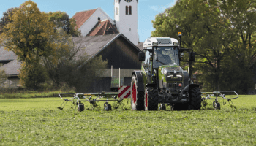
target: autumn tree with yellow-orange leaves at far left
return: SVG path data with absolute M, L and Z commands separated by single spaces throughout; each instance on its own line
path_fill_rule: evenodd
M 12 50 L 22 61 L 20 79 L 24 81 L 25 86 L 37 88 L 37 85 L 43 82 L 42 78 L 45 78 L 34 74 L 42 71 L 39 69 L 42 57 L 56 53 L 54 24 L 48 21 L 48 15 L 40 12 L 33 1 L 26 1 L 18 9 L 13 9 L 9 19 L 12 23 L 5 26 L 0 44 L 7 50 Z M 26 85 L 26 77 L 34 80 L 34 84 Z

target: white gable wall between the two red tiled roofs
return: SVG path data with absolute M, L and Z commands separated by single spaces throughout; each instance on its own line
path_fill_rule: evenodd
M 94 14 L 78 29 L 81 31 L 81 36 L 85 37 L 94 28 L 98 23 L 98 17 L 100 17 L 100 20 L 108 19 L 110 23 L 114 24 L 113 20 L 101 8 L 97 8 Z

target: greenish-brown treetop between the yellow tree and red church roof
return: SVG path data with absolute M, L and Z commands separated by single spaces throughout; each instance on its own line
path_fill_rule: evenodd
M 69 18 L 66 12 L 49 12 L 48 20 L 53 22 L 57 28 L 62 28 L 67 34 L 72 37 L 79 37 L 80 31 L 78 31 L 78 27 L 75 23 L 74 18 Z

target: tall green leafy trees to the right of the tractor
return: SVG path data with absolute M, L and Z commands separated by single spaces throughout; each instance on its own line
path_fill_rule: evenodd
M 255 88 L 255 8 L 255 0 L 178 0 L 152 21 L 151 37 L 182 32 L 182 47 L 196 52 L 192 73 L 203 91 L 248 93 Z

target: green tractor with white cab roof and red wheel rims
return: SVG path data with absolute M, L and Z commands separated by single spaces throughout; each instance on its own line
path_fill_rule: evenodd
M 181 33 L 178 33 L 181 42 Z M 189 69 L 195 61 L 192 49 L 181 48 L 177 39 L 151 37 L 138 54 L 142 61 L 140 71 L 132 72 L 132 110 L 199 110 L 201 91 L 190 80 L 191 72 L 180 66 L 184 51 L 189 52 Z

